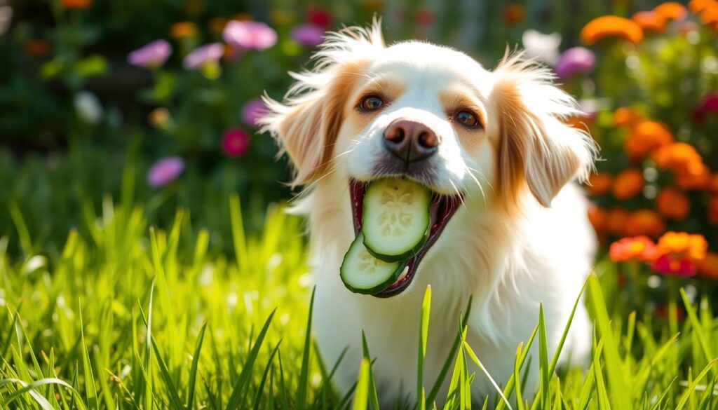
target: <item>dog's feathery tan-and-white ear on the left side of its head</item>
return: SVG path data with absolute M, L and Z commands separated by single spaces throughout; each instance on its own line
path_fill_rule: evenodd
M 274 101 L 264 96 L 268 112 L 259 120 L 294 164 L 292 186 L 307 185 L 330 165 L 347 98 L 361 77 L 363 65 L 384 47 L 381 21 L 368 29 L 349 27 L 327 33 L 314 55 L 314 69 L 289 73 L 297 80 L 284 96 Z

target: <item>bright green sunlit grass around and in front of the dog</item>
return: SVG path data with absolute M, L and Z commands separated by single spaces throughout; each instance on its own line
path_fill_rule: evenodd
M 211 251 L 212 233 L 194 228 L 189 213 L 153 228 L 143 208 L 109 197 L 53 251 L 34 243 L 22 209 L 11 208 L 14 240 L 23 243 L 0 239 L 0 408 L 376 408 L 371 346 L 363 340 L 355 394 L 340 396 L 331 386 L 337 363 L 322 362 L 307 330 L 313 297 L 301 220 L 272 206 L 261 235 L 246 235 L 238 197 L 225 203 L 233 253 Z M 615 266 L 602 262 L 597 272 L 585 289 L 595 318 L 586 366 L 557 366 L 561 348 L 547 349 L 540 309 L 533 334 L 516 347 L 515 374 L 493 380 L 465 340 L 466 312 L 455 318 L 456 354 L 444 366 L 449 395 L 437 398 L 436 386 L 418 378 L 419 403 L 397 407 L 718 408 L 711 301 L 682 292 L 669 320 L 637 317 L 615 303 Z M 417 363 L 407 364 L 419 373 L 430 288 L 421 309 Z M 540 380 L 536 392 L 523 388 L 529 373 Z M 494 383 L 489 400 L 471 395 L 475 378 Z

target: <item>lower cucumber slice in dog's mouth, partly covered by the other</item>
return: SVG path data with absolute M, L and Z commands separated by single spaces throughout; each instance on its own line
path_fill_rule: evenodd
M 340 277 L 352 292 L 373 294 L 393 284 L 404 271 L 405 262 L 384 262 L 375 258 L 364 246 L 361 233 L 344 255 Z

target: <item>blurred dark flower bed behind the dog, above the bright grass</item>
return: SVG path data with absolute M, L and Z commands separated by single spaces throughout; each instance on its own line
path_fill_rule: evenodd
M 692 274 L 718 276 L 705 254 L 718 248 L 712 0 L 0 0 L 9 251 L 57 253 L 70 228 L 90 235 L 103 197 L 141 205 L 150 225 L 189 210 L 211 250 L 230 250 L 230 192 L 251 232 L 292 195 L 286 159 L 257 134 L 258 98 L 281 97 L 322 32 L 375 14 L 388 42 L 428 39 L 487 67 L 523 47 L 554 67 L 587 113 L 571 121 L 603 148 L 587 190 L 606 250 L 625 236 L 696 234 L 710 264 L 694 258 Z

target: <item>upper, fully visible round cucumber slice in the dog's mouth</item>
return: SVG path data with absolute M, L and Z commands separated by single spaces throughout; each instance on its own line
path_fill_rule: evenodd
M 368 251 L 382 261 L 403 261 L 429 237 L 432 194 L 409 180 L 372 182 L 364 195 L 362 232 Z

